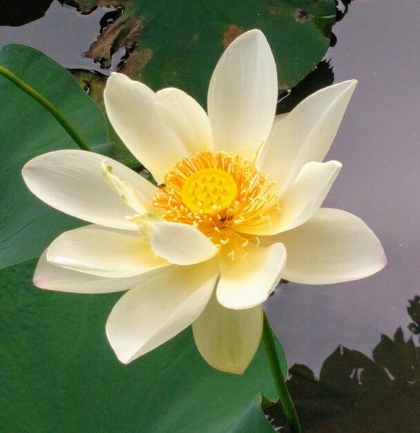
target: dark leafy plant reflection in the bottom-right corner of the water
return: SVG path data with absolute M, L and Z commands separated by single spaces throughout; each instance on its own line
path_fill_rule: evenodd
M 420 297 L 409 303 L 418 331 Z M 372 358 L 339 346 L 323 362 L 318 379 L 306 365 L 296 364 L 289 373 L 287 385 L 303 432 L 419 432 L 420 347 L 413 337 L 405 340 L 401 328 L 393 338 L 381 336 Z M 285 426 L 278 405 L 265 412 L 273 425 Z

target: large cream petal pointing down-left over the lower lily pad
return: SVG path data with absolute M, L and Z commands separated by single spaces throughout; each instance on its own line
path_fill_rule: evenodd
M 183 331 L 202 313 L 218 278 L 217 260 L 170 266 L 128 291 L 106 322 L 106 335 L 125 364 Z

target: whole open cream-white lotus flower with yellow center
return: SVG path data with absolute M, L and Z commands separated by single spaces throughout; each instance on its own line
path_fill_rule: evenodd
M 178 89 L 153 92 L 113 73 L 115 131 L 158 187 L 108 157 L 53 151 L 23 167 L 29 189 L 90 225 L 39 259 L 40 288 L 128 290 L 106 334 L 131 362 L 192 324 L 209 365 L 241 374 L 262 335 L 262 303 L 280 279 L 331 284 L 385 265 L 356 216 L 321 208 L 341 169 L 323 163 L 356 86 L 314 93 L 276 117 L 276 64 L 264 35 L 238 37 L 218 62 L 208 114 Z

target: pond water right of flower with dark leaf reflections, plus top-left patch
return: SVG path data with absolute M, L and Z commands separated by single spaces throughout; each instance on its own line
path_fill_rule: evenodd
M 81 15 L 53 1 L 42 19 L 0 27 L 0 46 L 28 44 L 68 68 L 109 73 L 83 52 L 110 11 Z M 420 295 L 419 17 L 417 1 L 352 1 L 326 56 L 336 82 L 356 78 L 359 86 L 330 152 L 343 169 L 325 206 L 361 216 L 388 268 L 359 282 L 287 284 L 267 302 L 289 362 L 299 365 L 291 387 L 305 431 L 420 431 L 419 359 L 402 340 L 412 335 L 408 302 Z M 394 342 L 381 338 L 399 326 Z

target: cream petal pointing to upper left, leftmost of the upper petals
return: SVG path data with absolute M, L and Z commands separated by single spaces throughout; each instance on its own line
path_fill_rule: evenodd
M 187 156 L 180 139 L 158 116 L 155 93 L 126 75 L 112 73 L 104 91 L 106 114 L 124 145 L 157 181 Z

